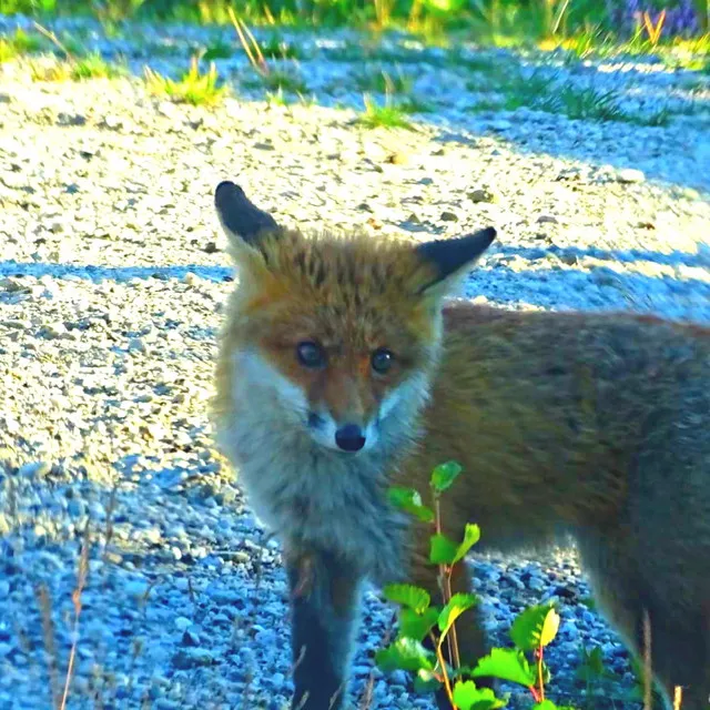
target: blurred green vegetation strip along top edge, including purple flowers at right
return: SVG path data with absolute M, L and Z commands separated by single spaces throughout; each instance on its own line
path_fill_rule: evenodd
M 645 37 L 643 11 L 657 22 L 668 10 L 661 41 L 708 32 L 710 0 L 0 0 L 0 13 L 36 18 L 90 14 L 105 24 L 126 19 L 225 24 L 229 11 L 254 26 L 349 26 L 400 29 L 428 39 L 471 37 L 549 40 Z M 671 18 L 674 18 L 671 20 Z M 662 24 L 663 21 L 661 21 Z M 586 38 L 586 39 L 585 39 Z

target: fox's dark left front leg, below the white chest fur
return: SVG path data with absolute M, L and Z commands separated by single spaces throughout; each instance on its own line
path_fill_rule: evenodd
M 286 554 L 292 609 L 293 710 L 342 707 L 359 601 L 359 577 L 332 552 Z

